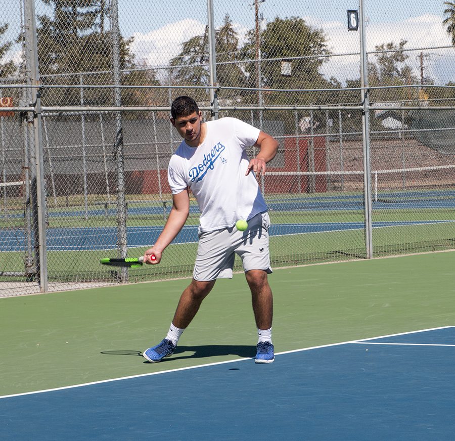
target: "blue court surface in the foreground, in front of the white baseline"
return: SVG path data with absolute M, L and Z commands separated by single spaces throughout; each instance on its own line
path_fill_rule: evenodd
M 0 437 L 455 438 L 454 326 L 278 353 L 268 365 L 243 358 L 172 370 L 186 351 L 163 362 L 167 371 L 0 397 Z

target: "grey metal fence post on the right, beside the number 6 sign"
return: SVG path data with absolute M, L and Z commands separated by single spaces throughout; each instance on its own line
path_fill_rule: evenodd
M 372 200 L 371 200 L 371 167 L 370 167 L 370 103 L 368 90 L 368 59 L 365 41 L 365 11 L 363 0 L 359 0 L 360 10 L 360 86 L 362 110 L 362 144 L 363 144 L 363 199 L 365 200 L 365 245 L 367 258 L 373 257 Z

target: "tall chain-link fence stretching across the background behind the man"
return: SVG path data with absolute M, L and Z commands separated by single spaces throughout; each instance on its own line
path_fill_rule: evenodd
M 450 3 L 9 3 L 0 296 L 191 277 L 193 198 L 158 266 L 99 264 L 142 255 L 166 221 L 178 95 L 279 140 L 260 181 L 272 266 L 455 248 Z

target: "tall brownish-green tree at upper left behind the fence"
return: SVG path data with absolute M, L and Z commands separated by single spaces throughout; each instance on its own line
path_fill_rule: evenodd
M 53 16 L 39 16 L 38 60 L 43 83 L 61 85 L 112 84 L 112 37 L 105 30 L 105 2 L 99 0 L 42 0 L 53 6 Z M 130 50 L 133 38 L 120 37 L 122 84 L 157 84 L 154 71 L 136 70 Z M 124 90 L 122 103 L 144 104 L 146 91 Z M 80 89 L 44 89 L 46 105 L 78 105 Z M 112 91 L 85 89 L 85 105 L 112 104 Z

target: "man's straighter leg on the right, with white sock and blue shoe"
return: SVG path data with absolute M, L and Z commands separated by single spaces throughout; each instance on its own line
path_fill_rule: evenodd
M 274 301 L 267 273 L 262 270 L 250 270 L 245 273 L 245 277 L 251 290 L 258 334 L 255 363 L 272 363 L 275 360 L 275 349 L 271 341 Z

